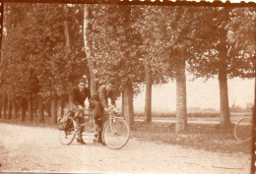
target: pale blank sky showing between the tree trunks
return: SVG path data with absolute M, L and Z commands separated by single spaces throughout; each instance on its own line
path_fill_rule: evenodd
M 228 80 L 229 106 L 232 104 L 241 107 L 254 101 L 254 80 L 242 80 L 235 78 Z M 204 83 L 203 79 L 195 81 L 187 80 L 187 107 L 200 107 L 202 109 L 213 108 L 220 110 L 220 89 L 218 79 L 211 79 Z M 120 99 L 117 105 L 120 106 Z M 176 87 L 175 82 L 153 87 L 152 111 L 171 112 L 175 111 Z M 144 111 L 145 87 L 134 98 L 135 112 Z

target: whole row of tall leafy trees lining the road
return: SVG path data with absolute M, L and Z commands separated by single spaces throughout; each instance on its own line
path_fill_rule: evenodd
M 225 128 L 227 78 L 254 77 L 255 17 L 254 8 L 5 4 L 2 101 L 11 105 L 13 98 L 29 96 L 32 110 L 33 96 L 50 98 L 56 122 L 57 95 L 64 103 L 82 75 L 92 93 L 115 78 L 132 125 L 139 86 L 146 84 L 145 121 L 151 122 L 152 86 L 172 80 L 180 133 L 187 127 L 188 71 L 219 78 Z

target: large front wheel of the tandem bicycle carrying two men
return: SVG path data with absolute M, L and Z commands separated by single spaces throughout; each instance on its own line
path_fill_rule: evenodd
M 130 127 L 123 118 L 108 121 L 102 131 L 105 145 L 112 149 L 119 149 L 126 145 L 130 138 Z

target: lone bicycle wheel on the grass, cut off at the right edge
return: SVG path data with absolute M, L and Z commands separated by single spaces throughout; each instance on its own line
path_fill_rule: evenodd
M 252 135 L 252 120 L 250 118 L 241 119 L 234 127 L 234 137 L 239 142 L 247 142 Z

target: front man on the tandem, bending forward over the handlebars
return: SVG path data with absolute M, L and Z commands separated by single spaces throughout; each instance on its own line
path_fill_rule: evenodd
M 108 111 L 108 98 L 111 99 L 111 104 L 115 105 L 116 96 L 114 90 L 115 81 L 111 79 L 105 85 L 98 87 L 96 93 L 91 99 L 91 106 L 94 109 L 94 119 L 96 124 L 95 142 L 100 143 L 101 145 L 104 145 L 101 138 L 102 130 L 100 130 L 104 122 L 103 115 L 104 112 Z

